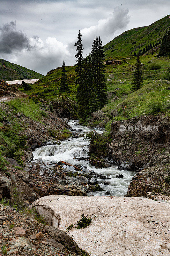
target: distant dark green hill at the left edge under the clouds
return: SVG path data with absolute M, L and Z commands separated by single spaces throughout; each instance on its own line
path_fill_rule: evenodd
M 41 77 L 43 77 L 43 75 L 40 73 L 21 67 L 17 64 L 13 64 L 7 60 L 0 59 L 0 80 L 2 81 L 39 79 Z

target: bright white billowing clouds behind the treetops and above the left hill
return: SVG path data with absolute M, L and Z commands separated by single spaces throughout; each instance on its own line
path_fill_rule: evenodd
M 97 25 L 82 29 L 84 54 L 90 51 L 94 36 L 100 35 L 101 39 L 106 41 L 108 36 L 113 38 L 116 31 L 125 28 L 128 22 L 128 10 L 117 7 L 107 19 L 99 20 Z M 16 29 L 14 32 L 18 35 Z M 10 61 L 15 60 L 21 66 L 46 74 L 49 70 L 62 66 L 63 60 L 66 65 L 75 64 L 75 41 L 76 36 L 68 45 L 58 41 L 56 37 L 48 36 L 46 40 L 42 40 L 39 36 L 33 36 L 29 38 L 29 50 L 25 47 L 20 51 L 11 49 Z M 4 58 L 9 60 L 7 55 Z

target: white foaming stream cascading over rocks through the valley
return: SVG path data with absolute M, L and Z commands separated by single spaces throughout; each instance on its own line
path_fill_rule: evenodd
M 65 161 L 71 164 L 79 164 L 86 166 L 86 168 L 89 170 L 93 170 L 96 174 L 103 174 L 107 176 L 105 183 L 107 181 L 109 184 L 103 184 L 104 180 L 100 180 L 100 178 L 98 178 L 100 187 L 103 188 L 104 191 L 90 192 L 89 194 L 104 196 L 106 191 L 110 192 L 112 196 L 123 196 L 126 194 L 130 180 L 135 175 L 135 172 L 119 170 L 114 166 L 108 168 L 95 168 L 85 160 L 74 159 L 74 157 L 87 156 L 89 140 L 84 140 L 83 134 L 90 132 L 93 129 L 81 126 L 77 121 L 70 121 L 68 124 L 77 132 L 79 132 L 80 135 L 82 134 L 82 136 L 61 141 L 60 145 L 47 145 L 41 148 L 37 148 L 33 152 L 34 159 L 42 158 L 43 161 L 48 162 Z M 96 129 L 96 132 L 100 134 L 103 133 L 103 131 L 100 129 Z M 122 174 L 124 177 L 121 179 L 116 178 L 116 175 L 119 174 Z

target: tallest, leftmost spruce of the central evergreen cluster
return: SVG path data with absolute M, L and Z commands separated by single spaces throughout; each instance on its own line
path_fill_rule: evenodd
M 83 44 L 82 44 L 82 40 L 81 40 L 82 34 L 80 33 L 80 30 L 78 32 L 78 40 L 75 43 L 76 46 L 76 55 L 75 58 L 76 60 L 76 65 L 75 65 L 75 71 L 76 71 L 76 85 L 80 85 L 81 83 L 81 74 L 82 74 L 82 61 L 83 61 Z M 81 87 L 81 85 L 80 85 Z M 80 87 L 78 87 L 78 91 L 80 89 Z

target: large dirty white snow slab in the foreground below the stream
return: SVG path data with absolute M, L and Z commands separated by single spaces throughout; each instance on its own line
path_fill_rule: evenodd
M 44 196 L 32 206 L 92 256 L 170 256 L 170 204 L 141 197 Z M 68 231 L 83 213 L 92 223 Z

